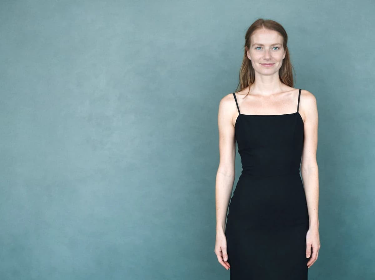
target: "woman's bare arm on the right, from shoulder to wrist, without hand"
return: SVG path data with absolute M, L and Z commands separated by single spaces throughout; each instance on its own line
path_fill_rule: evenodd
M 319 174 L 317 164 L 318 109 L 315 96 L 304 91 L 301 105 L 305 113 L 305 140 L 303 142 L 301 174 L 309 211 L 310 228 L 319 228 Z

